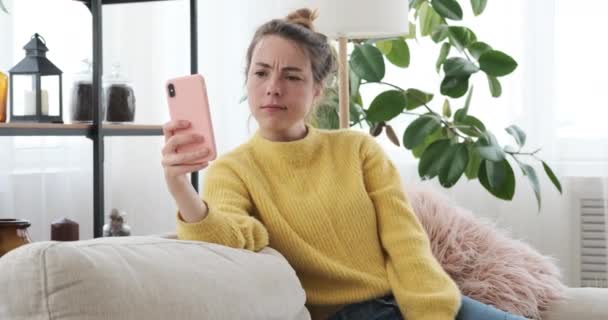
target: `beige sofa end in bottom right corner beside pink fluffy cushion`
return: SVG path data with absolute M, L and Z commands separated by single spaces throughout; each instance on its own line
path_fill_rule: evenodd
M 608 319 L 608 289 L 568 288 L 566 298 L 556 301 L 543 313 L 543 320 Z

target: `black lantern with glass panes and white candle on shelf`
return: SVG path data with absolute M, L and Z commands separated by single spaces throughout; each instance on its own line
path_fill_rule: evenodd
M 10 122 L 63 123 L 61 70 L 46 58 L 46 41 L 34 34 L 25 58 L 9 70 Z

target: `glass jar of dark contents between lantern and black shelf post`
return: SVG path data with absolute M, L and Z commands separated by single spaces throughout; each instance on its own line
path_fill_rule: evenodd
M 72 100 L 70 101 L 72 122 L 93 121 L 93 81 L 92 65 L 88 59 L 82 60 L 81 71 L 74 75 Z M 104 118 L 102 95 L 101 119 Z

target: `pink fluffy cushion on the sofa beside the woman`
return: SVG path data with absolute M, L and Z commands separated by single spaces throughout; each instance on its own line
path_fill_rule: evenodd
M 433 254 L 462 294 L 532 319 L 540 319 L 550 302 L 563 297 L 565 287 L 552 258 L 437 192 L 407 189 Z

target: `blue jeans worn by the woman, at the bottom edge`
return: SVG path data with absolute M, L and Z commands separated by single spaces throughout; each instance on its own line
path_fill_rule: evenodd
M 328 320 L 405 320 L 393 295 L 353 303 L 340 309 Z M 462 297 L 456 320 L 526 320 L 498 310 L 469 297 Z

